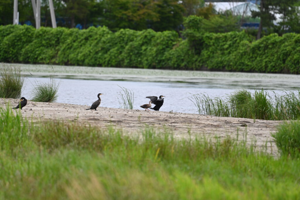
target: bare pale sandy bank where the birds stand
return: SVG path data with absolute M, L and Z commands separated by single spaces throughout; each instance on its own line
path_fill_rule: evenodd
M 0 106 L 7 103 L 15 106 L 19 100 L 0 98 Z M 146 112 L 141 110 L 128 110 L 98 107 L 95 110 L 85 110 L 89 106 L 73 105 L 66 103 L 42 103 L 28 101 L 22 109 L 23 117 L 33 121 L 57 119 L 63 121 L 78 121 L 80 124 L 91 124 L 97 127 L 114 125 L 125 133 L 140 133 L 147 125 L 154 127 L 158 132 L 164 133 L 171 130 L 174 136 L 187 138 L 189 134 L 194 137 L 198 134 L 205 136 L 217 136 L 220 138 L 231 136 L 239 139 L 247 132 L 247 143 L 256 141 L 256 146 L 262 148 L 267 142 L 267 151 L 277 154 L 271 133 L 276 131 L 282 121 L 254 120 L 245 118 L 215 117 L 209 115 L 197 115 L 188 113 L 170 112 Z

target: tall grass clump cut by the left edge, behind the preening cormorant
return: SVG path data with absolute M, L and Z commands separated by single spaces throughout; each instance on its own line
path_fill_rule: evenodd
M 0 65 L 0 97 L 17 99 L 21 97 L 24 76 L 20 67 Z

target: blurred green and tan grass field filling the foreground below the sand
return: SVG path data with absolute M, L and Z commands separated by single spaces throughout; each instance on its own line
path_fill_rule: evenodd
M 0 199 L 299 199 L 300 160 L 245 139 L 29 124 L 9 108 L 0 116 Z

